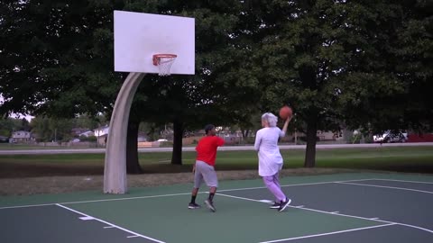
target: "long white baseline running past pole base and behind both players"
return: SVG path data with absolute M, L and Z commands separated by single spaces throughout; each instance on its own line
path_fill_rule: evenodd
M 370 181 L 373 179 L 357 179 L 357 180 L 346 180 L 346 181 L 329 181 L 329 182 L 319 182 L 319 183 L 304 183 L 304 184 L 285 184 L 281 185 L 281 187 L 289 187 L 289 186 L 302 186 L 302 185 L 311 185 L 311 184 L 333 184 L 333 183 L 342 183 L 342 182 L 361 182 L 361 181 Z M 235 192 L 235 191 L 244 191 L 244 190 L 255 190 L 255 189 L 265 189 L 265 186 L 260 187 L 244 187 L 244 188 L 235 188 L 235 189 L 226 189 L 219 190 L 218 192 Z M 207 192 L 200 192 L 207 193 Z M 19 209 L 19 208 L 30 208 L 30 207 L 41 207 L 41 206 L 52 206 L 56 204 L 76 204 L 76 203 L 88 203 L 88 202 L 112 202 L 112 201 L 123 201 L 123 200 L 135 200 L 135 199 L 146 199 L 146 198 L 158 198 L 158 197 L 166 197 L 166 196 L 178 196 L 178 195 L 189 195 L 189 193 L 172 193 L 172 194 L 160 194 L 160 195 L 148 195 L 148 196 L 136 196 L 136 197 L 123 197 L 123 198 L 113 198 L 113 199 L 99 199 L 99 200 L 89 200 L 89 201 L 77 201 L 77 202 L 52 202 L 52 203 L 42 203 L 42 204 L 29 204 L 22 206 L 8 206 L 8 207 L 0 207 L 0 210 L 3 209 Z

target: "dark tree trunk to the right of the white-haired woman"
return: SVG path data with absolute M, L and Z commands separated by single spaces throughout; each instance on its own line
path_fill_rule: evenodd
M 317 115 L 309 115 L 309 120 L 307 121 L 307 149 L 305 150 L 304 167 L 316 166 L 317 133 Z

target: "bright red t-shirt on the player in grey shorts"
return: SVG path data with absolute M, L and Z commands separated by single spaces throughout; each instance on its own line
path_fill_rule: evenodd
M 206 136 L 198 141 L 196 147 L 197 160 L 206 162 L 209 166 L 215 166 L 218 146 L 224 145 L 224 139 L 217 136 Z

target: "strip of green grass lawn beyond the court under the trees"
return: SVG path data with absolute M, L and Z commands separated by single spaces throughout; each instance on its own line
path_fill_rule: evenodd
M 281 149 L 285 168 L 303 166 L 304 149 Z M 183 152 L 183 166 L 170 165 L 170 152 L 143 152 L 145 173 L 186 172 L 195 152 Z M 46 175 L 103 175 L 105 154 L 0 155 L 0 178 Z M 433 173 L 432 147 L 318 148 L 317 167 Z M 255 151 L 218 151 L 218 170 L 257 169 Z

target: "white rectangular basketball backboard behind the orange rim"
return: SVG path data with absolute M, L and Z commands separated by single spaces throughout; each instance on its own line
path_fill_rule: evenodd
M 115 71 L 159 73 L 154 54 L 176 54 L 171 74 L 195 72 L 195 19 L 115 11 Z

